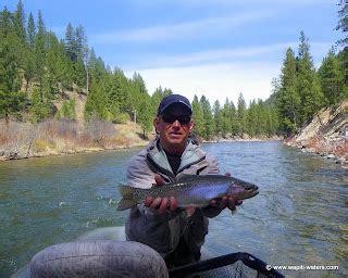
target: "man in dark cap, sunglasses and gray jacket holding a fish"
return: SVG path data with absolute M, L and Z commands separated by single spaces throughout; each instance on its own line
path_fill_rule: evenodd
M 165 97 L 153 125 L 158 138 L 134 156 L 127 168 L 128 185 L 138 188 L 165 186 L 183 175 L 219 174 L 216 159 L 189 139 L 194 128 L 191 105 L 179 94 Z M 145 243 L 159 252 L 167 267 L 196 262 L 208 233 L 208 217 L 222 210 L 235 210 L 240 200 L 224 197 L 203 208 L 177 210 L 173 197 L 147 198 L 130 210 L 126 220 L 128 240 Z

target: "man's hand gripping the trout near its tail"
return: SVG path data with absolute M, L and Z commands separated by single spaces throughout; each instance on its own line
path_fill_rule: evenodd
M 165 185 L 165 180 L 159 174 L 154 175 L 154 181 L 157 187 L 161 187 Z M 174 197 L 170 197 L 170 198 L 159 197 L 156 199 L 153 199 L 152 197 L 147 197 L 146 200 L 144 201 L 144 204 L 147 207 L 159 210 L 160 213 L 165 213 L 167 210 L 173 212 L 177 208 L 177 201 Z

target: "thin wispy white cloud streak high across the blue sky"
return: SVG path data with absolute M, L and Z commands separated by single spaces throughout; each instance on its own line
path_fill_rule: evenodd
M 169 39 L 200 37 L 238 27 L 241 24 L 270 16 L 270 12 L 252 12 L 231 17 L 207 17 L 198 21 L 147 28 L 125 29 L 91 36 L 92 43 L 158 42 Z

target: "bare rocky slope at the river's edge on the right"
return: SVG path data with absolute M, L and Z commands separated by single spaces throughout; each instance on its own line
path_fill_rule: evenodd
M 285 143 L 336 163 L 348 163 L 348 101 L 332 110 L 321 110 L 308 126 Z

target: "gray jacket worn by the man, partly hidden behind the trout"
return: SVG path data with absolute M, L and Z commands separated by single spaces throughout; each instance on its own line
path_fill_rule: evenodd
M 128 186 L 151 188 L 156 184 L 156 174 L 160 174 L 166 181 L 176 181 L 182 175 L 219 174 L 219 168 L 215 157 L 189 140 L 175 176 L 165 152 L 156 139 L 130 160 L 127 168 Z M 214 217 L 220 212 L 220 208 L 208 206 L 196 208 L 188 217 L 186 211 L 160 214 L 139 204 L 130 210 L 126 219 L 127 240 L 145 243 L 165 258 L 175 250 L 179 238 L 184 237 L 189 252 L 195 253 L 200 250 L 208 233 L 207 217 Z

